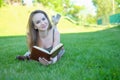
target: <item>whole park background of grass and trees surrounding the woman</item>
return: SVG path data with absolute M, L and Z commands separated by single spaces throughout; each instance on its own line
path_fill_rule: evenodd
M 0 0 L 0 80 L 120 79 L 119 0 L 24 1 Z M 36 9 L 50 19 L 62 15 L 58 30 L 66 54 L 54 65 L 15 60 L 27 51 L 27 21 Z

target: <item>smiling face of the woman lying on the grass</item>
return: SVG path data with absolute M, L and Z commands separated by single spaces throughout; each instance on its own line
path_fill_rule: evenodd
M 34 28 L 40 31 L 45 31 L 48 29 L 49 22 L 46 16 L 42 13 L 36 13 L 33 18 Z

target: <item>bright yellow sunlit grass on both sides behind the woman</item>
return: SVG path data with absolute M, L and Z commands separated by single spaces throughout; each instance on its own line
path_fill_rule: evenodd
M 25 6 L 6 6 L 0 8 L 0 36 L 25 35 L 26 26 L 30 13 L 33 10 L 41 9 L 48 13 L 49 18 L 55 14 L 54 11 L 43 6 L 25 7 Z M 79 33 L 104 30 L 108 27 L 82 27 L 77 26 L 62 16 L 58 29 L 60 33 Z

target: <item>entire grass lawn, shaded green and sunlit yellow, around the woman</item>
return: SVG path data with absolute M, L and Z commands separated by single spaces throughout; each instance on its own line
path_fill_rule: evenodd
M 22 8 L 18 12 L 23 10 L 25 14 L 5 20 L 0 13 L 0 80 L 120 80 L 120 26 L 83 28 L 62 18 L 58 29 L 66 52 L 60 61 L 43 66 L 35 61 L 16 60 L 17 55 L 27 51 L 25 20 L 33 10 Z

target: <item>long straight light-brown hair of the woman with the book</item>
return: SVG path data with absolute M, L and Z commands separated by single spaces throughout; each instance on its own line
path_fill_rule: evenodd
M 48 30 L 50 30 L 52 28 L 51 22 L 47 16 L 47 14 L 42 11 L 42 10 L 35 10 L 33 11 L 30 16 L 29 16 L 29 20 L 28 20 L 28 25 L 27 25 L 27 44 L 29 47 L 29 50 L 31 51 L 32 46 L 37 45 L 37 38 L 38 38 L 38 30 L 34 29 L 34 23 L 32 21 L 32 18 L 35 14 L 37 13 L 42 13 L 45 15 L 45 17 L 48 19 L 49 22 L 49 27 Z

